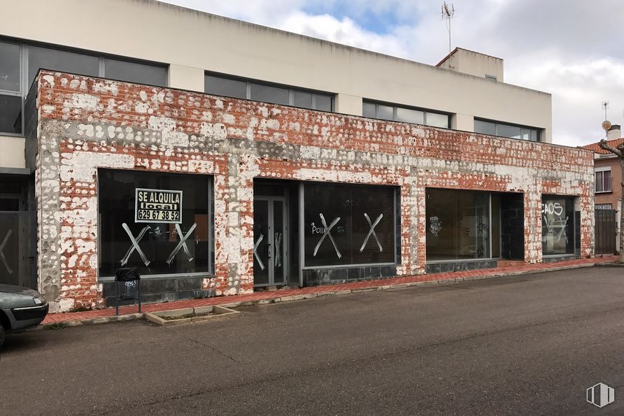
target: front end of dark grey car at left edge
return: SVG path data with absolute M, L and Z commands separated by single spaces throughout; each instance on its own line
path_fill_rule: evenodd
M 48 302 L 36 290 L 0 285 L 0 347 L 6 333 L 36 327 L 45 315 Z

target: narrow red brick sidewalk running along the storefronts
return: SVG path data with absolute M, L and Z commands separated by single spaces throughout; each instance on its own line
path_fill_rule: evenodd
M 229 306 L 242 306 L 253 303 L 290 301 L 295 299 L 305 299 L 330 294 L 346 294 L 352 291 L 357 292 L 367 289 L 393 289 L 395 287 L 419 285 L 423 284 L 423 282 L 455 282 L 462 280 L 471 280 L 474 278 L 537 273 L 540 271 L 557 270 L 562 268 L 577 268 L 583 266 L 592 266 L 593 264 L 597 263 L 605 263 L 607 261 L 615 261 L 616 259 L 616 256 L 593 257 L 591 259 L 574 259 L 540 264 L 520 264 L 518 266 L 485 268 L 453 273 L 432 273 L 427 275 L 414 275 L 408 277 L 364 280 L 360 282 L 341 283 L 339 285 L 304 287 L 302 289 L 283 289 L 272 292 L 255 292 L 253 294 L 241 294 L 236 296 L 219 296 L 206 299 L 190 299 L 187 301 L 150 303 L 147 305 L 143 305 L 141 309 L 143 312 L 157 312 L 160 310 L 194 308 L 197 306 L 208 305 L 227 304 Z M 137 306 L 122 306 L 120 308 L 120 315 L 136 314 L 137 312 Z M 74 324 L 77 324 L 85 320 L 88 322 L 89 320 L 98 320 L 98 318 L 113 317 L 114 315 L 115 308 L 87 310 L 85 312 L 55 313 L 48 315 L 43 321 L 43 324 L 53 324 L 57 322 L 72 322 Z

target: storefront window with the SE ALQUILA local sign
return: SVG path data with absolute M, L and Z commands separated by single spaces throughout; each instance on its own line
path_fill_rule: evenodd
M 100 169 L 99 276 L 211 273 L 212 179 Z

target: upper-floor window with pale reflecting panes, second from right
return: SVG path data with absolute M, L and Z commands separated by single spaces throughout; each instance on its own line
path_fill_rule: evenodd
M 448 129 L 448 113 L 436 113 L 430 110 L 392 106 L 374 101 L 362 101 L 362 115 L 364 117 L 379 118 L 413 124 L 425 124 L 425 126 L 441 127 Z

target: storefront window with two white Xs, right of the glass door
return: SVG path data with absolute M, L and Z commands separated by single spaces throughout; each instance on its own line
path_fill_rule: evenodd
M 395 188 L 306 183 L 305 266 L 395 262 Z

